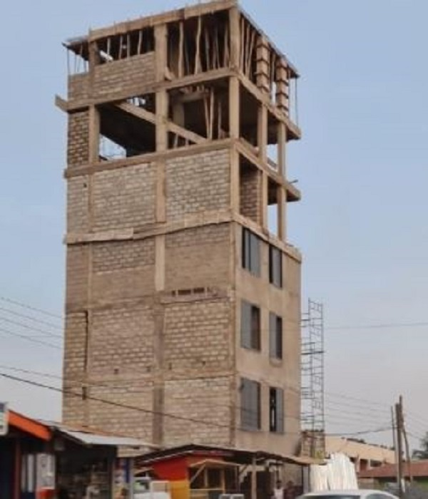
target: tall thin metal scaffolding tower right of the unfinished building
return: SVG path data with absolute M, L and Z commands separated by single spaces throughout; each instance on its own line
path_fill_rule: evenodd
M 302 432 L 307 453 L 325 453 L 324 307 L 309 299 L 302 317 Z M 304 438 L 305 440 L 305 438 Z

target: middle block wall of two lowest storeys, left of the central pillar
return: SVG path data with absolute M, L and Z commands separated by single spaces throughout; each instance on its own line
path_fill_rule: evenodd
M 89 369 L 98 386 L 91 387 L 91 397 L 151 411 L 153 328 L 147 305 L 93 312 Z M 89 413 L 94 428 L 151 441 L 151 413 L 98 401 L 89 401 Z

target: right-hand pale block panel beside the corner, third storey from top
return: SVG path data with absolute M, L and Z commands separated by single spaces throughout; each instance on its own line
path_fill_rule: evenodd
M 218 150 L 166 162 L 167 217 L 176 220 L 229 207 L 229 151 Z

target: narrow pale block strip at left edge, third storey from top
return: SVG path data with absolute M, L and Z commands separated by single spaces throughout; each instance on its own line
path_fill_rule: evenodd
M 67 232 L 86 232 L 89 223 L 88 177 L 75 177 L 67 182 Z

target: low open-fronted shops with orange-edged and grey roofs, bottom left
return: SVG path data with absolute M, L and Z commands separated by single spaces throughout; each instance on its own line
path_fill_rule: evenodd
M 117 459 L 118 448 L 150 447 L 15 411 L 9 411 L 7 426 L 0 436 L 0 499 L 52 498 L 61 488 L 83 497 L 88 487 L 96 488 L 99 499 L 110 499 L 115 488 L 129 488 L 131 482 L 132 463 Z

